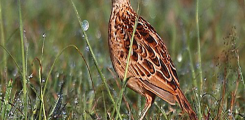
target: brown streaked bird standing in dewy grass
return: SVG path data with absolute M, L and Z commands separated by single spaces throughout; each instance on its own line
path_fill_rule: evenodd
M 129 53 L 136 20 L 132 51 Z M 112 0 L 108 44 L 113 68 L 120 79 L 124 77 L 130 54 L 127 87 L 146 98 L 140 120 L 144 119 L 156 96 L 171 105 L 177 102 L 191 120 L 197 120 L 180 89 L 176 68 L 163 39 L 149 22 L 137 15 L 130 0 Z

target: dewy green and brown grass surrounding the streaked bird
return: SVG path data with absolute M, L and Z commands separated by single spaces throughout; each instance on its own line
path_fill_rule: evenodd
M 72 1 L 0 1 L 0 119 L 139 117 L 144 98 L 124 90 L 110 63 L 111 1 Z M 138 2 L 131 2 L 136 10 Z M 244 119 L 244 1 L 139 6 L 168 46 L 199 117 Z M 146 118 L 188 118 L 180 112 L 157 98 Z

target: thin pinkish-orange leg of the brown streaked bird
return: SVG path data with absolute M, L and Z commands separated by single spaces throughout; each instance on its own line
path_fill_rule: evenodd
M 150 93 L 150 92 L 147 92 L 144 94 L 145 98 L 146 98 L 146 103 L 145 103 L 145 107 L 144 109 L 141 111 L 141 114 L 140 114 L 140 119 L 139 120 L 143 120 L 147 111 L 149 110 L 149 108 L 151 107 L 152 103 L 154 102 L 155 100 L 155 95 Z

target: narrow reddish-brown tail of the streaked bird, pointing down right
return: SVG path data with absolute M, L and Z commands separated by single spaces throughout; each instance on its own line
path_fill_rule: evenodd
M 196 113 L 192 110 L 190 103 L 188 102 L 182 91 L 180 89 L 177 89 L 176 92 L 176 101 L 179 103 L 181 109 L 189 114 L 191 120 L 198 120 Z

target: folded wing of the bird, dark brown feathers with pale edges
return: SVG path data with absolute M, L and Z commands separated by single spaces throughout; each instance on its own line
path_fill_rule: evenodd
M 124 42 L 126 51 L 130 46 L 133 34 L 133 22 L 126 29 L 127 39 Z M 139 17 L 133 50 L 130 53 L 130 71 L 141 79 L 145 87 L 157 96 L 174 104 L 175 90 L 179 87 L 176 69 L 171 61 L 163 40 L 154 28 Z

